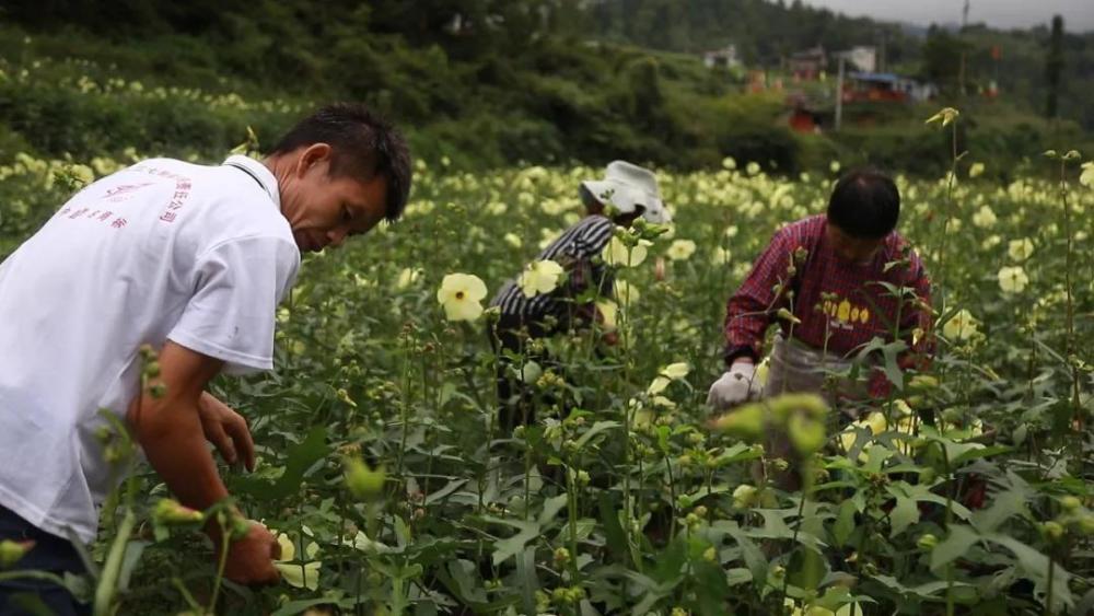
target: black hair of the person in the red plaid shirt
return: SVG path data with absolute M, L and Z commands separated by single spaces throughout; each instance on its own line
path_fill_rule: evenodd
M 859 168 L 839 178 L 828 199 L 828 222 L 852 237 L 880 240 L 896 229 L 900 191 L 893 178 Z

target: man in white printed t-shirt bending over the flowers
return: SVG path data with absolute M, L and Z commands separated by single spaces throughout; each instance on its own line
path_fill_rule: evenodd
M 228 497 L 206 442 L 248 468 L 254 443 L 206 386 L 222 371 L 270 370 L 300 252 L 397 219 L 409 186 L 399 132 L 362 106 L 333 105 L 260 162 L 153 159 L 104 177 L 0 264 L 0 541 L 34 542 L 16 565 L 82 570 L 70 542 L 95 538 L 121 470 L 104 455 L 100 409 L 127 422 L 183 504 Z M 149 386 L 160 397 L 141 395 L 142 345 L 158 351 Z M 276 581 L 276 546 L 253 524 L 231 544 L 226 577 Z M 22 590 L 59 614 L 85 609 L 56 586 L 13 584 L 0 584 L 0 613 Z

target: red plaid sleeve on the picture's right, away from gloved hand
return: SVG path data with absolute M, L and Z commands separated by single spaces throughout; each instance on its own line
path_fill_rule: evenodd
M 916 298 L 909 298 L 904 304 L 900 334 L 908 349 L 897 358 L 897 364 L 904 371 L 924 371 L 930 367 L 931 357 L 934 355 L 931 335 L 934 323 L 931 309 L 931 279 L 916 253 L 910 254 L 907 272 L 904 286 L 913 289 Z M 884 398 L 892 392 L 893 383 L 884 372 L 874 370 L 869 388 L 871 397 Z

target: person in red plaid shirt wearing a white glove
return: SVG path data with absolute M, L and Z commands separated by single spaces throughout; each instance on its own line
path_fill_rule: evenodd
M 707 403 L 726 409 L 765 391 L 823 393 L 833 403 L 884 397 L 891 383 L 881 370 L 870 371 L 865 384 L 840 379 L 835 388 L 825 387 L 825 376 L 846 372 L 864 345 L 875 337 L 892 341 L 894 332 L 908 347 L 900 367 L 921 365 L 929 355 L 931 283 L 895 231 L 899 213 L 893 179 L 860 170 L 836 184 L 827 213 L 779 230 L 726 305 L 729 370 Z M 775 324 L 780 332 L 760 383 L 755 364 Z

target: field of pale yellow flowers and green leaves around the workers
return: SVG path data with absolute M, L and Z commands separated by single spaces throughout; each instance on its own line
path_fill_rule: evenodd
M 0 167 L 0 256 L 129 162 Z M 118 614 L 1084 614 L 1082 162 L 1054 153 L 1040 177 L 997 185 L 970 152 L 947 177 L 898 177 L 899 229 L 934 283 L 935 327 L 918 333 L 934 360 L 894 370 L 891 396 L 854 421 L 812 409 L 806 434 L 790 416 L 805 480 L 789 491 L 773 477 L 791 461 L 763 439 L 777 405 L 715 425 L 705 400 L 725 300 L 777 229 L 824 211 L 838 164 L 659 174 L 673 226 L 619 230 L 605 323 L 550 339 L 559 365 L 524 371 L 575 410 L 502 433 L 482 309 L 507 279 L 534 294 L 565 276 L 522 266 L 582 216 L 578 184 L 601 170 L 419 162 L 401 221 L 305 257 L 278 314 L 278 370 L 217 382 L 259 454 L 253 474 L 222 472 L 244 512 L 281 533 L 282 583 L 221 581 L 199 518 L 140 465 L 103 512 L 95 576 L 68 583 Z

